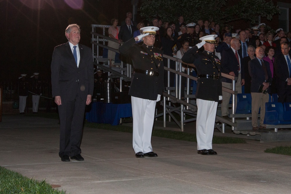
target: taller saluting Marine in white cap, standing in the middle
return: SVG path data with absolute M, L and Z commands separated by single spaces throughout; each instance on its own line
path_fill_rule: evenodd
M 156 102 L 160 100 L 164 89 L 164 65 L 162 51 L 155 48 L 158 27 L 141 28 L 143 33 L 131 38 L 119 47 L 122 55 L 130 57 L 134 66 L 129 95 L 132 102 L 133 149 L 135 156 L 158 156 L 152 152 L 151 136 L 155 118 Z M 143 40 L 143 45 L 135 44 Z

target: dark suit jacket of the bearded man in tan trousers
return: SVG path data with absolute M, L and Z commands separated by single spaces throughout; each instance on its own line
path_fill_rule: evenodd
M 272 73 L 270 70 L 270 64 L 268 61 L 265 61 L 265 60 L 263 60 L 263 62 L 265 64 L 267 74 L 268 74 L 268 79 L 266 82 L 272 83 Z M 249 74 L 252 78 L 251 92 L 258 92 L 260 85 L 262 85 L 263 82 L 265 82 L 266 80 L 264 70 L 258 58 L 254 58 L 249 61 Z M 267 92 L 270 93 L 270 88 L 268 88 Z

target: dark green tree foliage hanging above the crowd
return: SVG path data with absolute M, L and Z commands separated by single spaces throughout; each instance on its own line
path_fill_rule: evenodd
M 164 21 L 177 21 L 179 15 L 184 16 L 184 22 L 196 22 L 198 19 L 227 24 L 236 20 L 247 20 L 252 24 L 258 16 L 271 20 L 278 14 L 278 6 L 272 1 L 240 0 L 234 6 L 228 6 L 230 0 L 143 0 L 141 17 L 151 21 L 160 17 Z

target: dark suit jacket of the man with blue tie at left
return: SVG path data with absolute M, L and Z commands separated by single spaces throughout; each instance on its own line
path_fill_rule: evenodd
M 93 56 L 89 47 L 79 44 L 80 62 L 77 67 L 69 42 L 56 46 L 52 56 L 52 95 L 72 101 L 78 94 L 86 101 L 93 95 Z

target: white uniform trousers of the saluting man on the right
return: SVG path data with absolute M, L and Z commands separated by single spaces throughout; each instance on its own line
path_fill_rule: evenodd
M 218 102 L 196 99 L 197 150 L 212 149 L 212 138 Z

